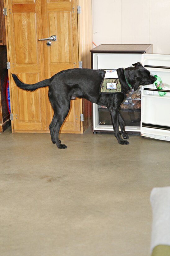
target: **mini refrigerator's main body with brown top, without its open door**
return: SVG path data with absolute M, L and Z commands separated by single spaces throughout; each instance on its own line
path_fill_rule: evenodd
M 93 69 L 117 69 L 129 67 L 136 62 L 142 63 L 142 55 L 152 53 L 150 44 L 101 44 L 91 52 L 91 67 Z M 121 106 L 120 114 L 125 121 L 125 130 L 131 133 L 140 134 L 141 118 L 141 92 L 133 100 L 125 100 Z M 131 103 L 130 103 L 131 102 Z M 93 104 L 92 110 L 92 131 L 113 132 L 113 125 L 108 109 L 103 109 L 97 104 Z

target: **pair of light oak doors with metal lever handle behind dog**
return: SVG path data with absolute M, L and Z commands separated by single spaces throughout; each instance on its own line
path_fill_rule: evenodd
M 76 0 L 6 0 L 10 73 L 35 83 L 67 68 L 78 67 Z M 52 35 L 51 46 L 39 39 Z M 34 92 L 18 89 L 11 78 L 13 131 L 47 132 L 53 111 L 48 87 Z M 80 100 L 73 102 L 62 127 L 80 131 Z

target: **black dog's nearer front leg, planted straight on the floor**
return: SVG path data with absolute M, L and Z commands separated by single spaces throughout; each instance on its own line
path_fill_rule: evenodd
M 117 138 L 117 141 L 119 142 L 119 144 L 122 145 L 127 145 L 129 144 L 129 141 L 127 140 L 123 140 L 122 137 L 120 136 L 120 132 L 119 132 L 119 119 L 118 119 L 118 107 L 109 107 L 109 112 L 111 115 L 111 120 L 112 120 L 112 124 L 113 124 L 113 130 L 114 130 L 114 135 Z

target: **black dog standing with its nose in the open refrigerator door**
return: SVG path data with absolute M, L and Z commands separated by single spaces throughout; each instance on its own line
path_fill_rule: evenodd
M 129 144 L 127 140 L 123 140 L 128 139 L 128 135 L 125 132 L 125 123 L 119 114 L 119 107 L 126 97 L 126 93 L 130 90 L 128 84 L 136 91 L 139 85 L 152 84 L 156 80 L 140 62 L 133 64 L 133 66 L 135 67 L 117 69 L 122 91 L 121 93 L 112 94 L 100 94 L 99 92 L 105 73 L 104 70 L 68 69 L 33 85 L 22 83 L 14 74 L 12 74 L 12 77 L 16 85 L 26 91 L 34 91 L 40 87 L 49 87 L 48 97 L 54 111 L 53 120 L 49 125 L 49 129 L 51 140 L 59 149 L 67 148 L 66 145 L 61 144 L 58 134 L 69 112 L 70 101 L 74 100 L 76 97 L 85 98 L 92 103 L 108 107 L 115 137 L 120 144 Z M 119 132 L 119 124 L 123 139 Z

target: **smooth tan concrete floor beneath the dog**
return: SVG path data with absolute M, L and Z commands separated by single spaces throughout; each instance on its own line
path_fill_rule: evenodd
M 170 181 L 167 141 L 112 134 L 0 135 L 0 255 L 147 256 L 153 187 Z

